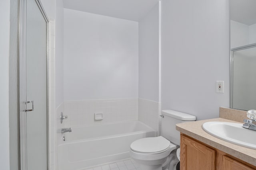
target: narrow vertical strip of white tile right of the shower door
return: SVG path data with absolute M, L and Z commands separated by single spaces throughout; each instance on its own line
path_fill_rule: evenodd
M 49 53 L 48 53 L 48 163 L 49 169 L 56 167 L 56 114 L 55 114 L 55 82 L 54 82 L 54 20 L 49 23 Z

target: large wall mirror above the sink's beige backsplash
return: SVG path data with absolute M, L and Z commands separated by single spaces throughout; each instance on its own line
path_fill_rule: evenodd
M 230 0 L 230 108 L 256 109 L 256 0 Z

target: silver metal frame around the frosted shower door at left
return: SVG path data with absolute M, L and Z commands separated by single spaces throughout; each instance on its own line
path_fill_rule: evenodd
M 49 101 L 48 101 L 48 69 L 49 69 L 49 19 L 44 11 L 42 3 L 40 0 L 35 0 L 38 8 L 40 9 L 42 16 L 46 21 L 46 97 L 47 97 L 47 118 L 46 118 L 46 128 L 47 128 L 47 169 L 49 169 L 49 128 L 48 128 L 48 117 L 49 117 Z M 26 134 L 26 0 L 19 0 L 19 16 L 18 16 L 18 133 L 19 133 L 19 163 L 20 170 L 27 170 L 27 134 Z

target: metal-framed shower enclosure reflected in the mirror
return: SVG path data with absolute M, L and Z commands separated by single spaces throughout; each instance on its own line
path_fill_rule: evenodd
M 256 108 L 256 44 L 231 49 L 230 108 Z

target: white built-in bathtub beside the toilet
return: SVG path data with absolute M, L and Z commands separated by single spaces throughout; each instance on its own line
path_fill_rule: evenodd
M 156 131 L 140 121 L 72 128 L 57 147 L 58 170 L 82 170 L 129 158 L 130 144 Z

